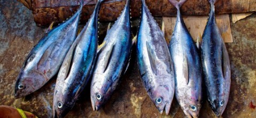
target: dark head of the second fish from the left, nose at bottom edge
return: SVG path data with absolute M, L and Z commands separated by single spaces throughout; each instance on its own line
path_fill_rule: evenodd
M 52 104 L 53 117 L 64 117 L 72 109 L 73 102 L 72 100 L 69 101 L 70 98 L 68 98 L 68 95 L 66 96 L 67 97 L 65 98 L 65 93 L 63 93 L 60 89 L 55 89 Z

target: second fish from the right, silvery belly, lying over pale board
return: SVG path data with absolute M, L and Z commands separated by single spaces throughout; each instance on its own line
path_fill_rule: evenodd
M 175 98 L 187 117 L 198 117 L 202 98 L 202 69 L 199 49 L 180 13 L 187 0 L 169 0 L 177 9 L 177 20 L 169 42 L 175 75 Z

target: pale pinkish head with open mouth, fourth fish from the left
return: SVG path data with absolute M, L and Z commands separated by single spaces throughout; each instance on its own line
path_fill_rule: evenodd
M 150 98 L 154 105 L 158 108 L 160 114 L 165 110 L 166 115 L 169 114 L 170 105 L 173 100 L 173 91 L 168 85 L 160 85 L 150 93 Z

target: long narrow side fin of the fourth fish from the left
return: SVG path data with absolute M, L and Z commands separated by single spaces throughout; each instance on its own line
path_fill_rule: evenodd
M 146 42 L 146 49 L 149 56 L 150 66 L 155 75 L 157 75 L 157 66 L 156 66 L 156 56 L 153 54 L 153 49 L 149 45 L 148 41 Z

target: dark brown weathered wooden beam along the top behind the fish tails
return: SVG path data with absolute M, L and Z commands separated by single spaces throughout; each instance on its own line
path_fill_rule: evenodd
M 18 0 L 33 11 L 35 22 L 38 26 L 50 24 L 52 21 L 61 22 L 75 12 L 79 0 Z M 90 5 L 84 6 L 82 22 L 90 18 L 97 0 L 92 0 Z M 106 0 L 100 10 L 100 21 L 114 21 L 121 13 L 125 0 Z M 175 16 L 176 9 L 168 0 L 146 0 L 153 16 Z M 131 16 L 140 14 L 141 0 L 131 0 Z M 208 15 L 210 5 L 208 0 L 190 0 L 182 8 L 183 15 Z M 256 11 L 256 0 L 219 0 L 215 4 L 216 14 L 244 13 Z

